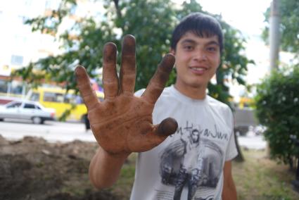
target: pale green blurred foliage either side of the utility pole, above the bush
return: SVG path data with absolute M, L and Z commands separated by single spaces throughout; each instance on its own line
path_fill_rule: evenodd
M 290 51 L 299 56 L 299 1 L 298 0 L 280 0 L 279 12 L 281 16 L 281 48 L 284 51 Z M 267 41 L 269 37 L 269 15 L 270 8 L 265 12 L 265 21 L 267 25 L 262 33 Z

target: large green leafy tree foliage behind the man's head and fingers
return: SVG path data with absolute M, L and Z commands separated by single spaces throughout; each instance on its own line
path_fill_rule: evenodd
M 65 53 L 31 63 L 30 68 L 20 70 L 17 74 L 27 80 L 32 75 L 30 70 L 36 69 L 44 72 L 47 81 L 64 82 L 68 88 L 75 88 L 75 65 L 84 65 L 89 75 L 96 77 L 95 71 L 102 65 L 103 45 L 106 42 L 115 42 L 118 52 L 121 53 L 122 35 L 131 34 L 136 37 L 135 89 L 144 88 L 163 55 L 170 51 L 170 39 L 175 25 L 185 15 L 202 11 L 201 5 L 195 0 L 184 2 L 179 8 L 170 0 L 114 0 L 114 4 L 111 3 L 112 1 L 103 1 L 106 10 L 105 13 L 101 13 L 101 18 L 82 18 L 63 35 L 57 35 L 59 24 L 63 18 L 71 15 L 70 11 L 77 6 L 75 1 L 62 0 L 61 6 L 57 11 L 52 11 L 51 15 L 28 20 L 27 23 L 32 25 L 32 31 L 40 30 L 56 35 L 62 42 L 61 48 Z M 240 32 L 224 23 L 220 15 L 215 17 L 222 23 L 225 45 L 222 65 L 217 71 L 217 84 L 210 83 L 208 89 L 210 95 L 227 103 L 229 88 L 225 85 L 225 80 L 236 80 L 245 85 L 243 77 L 246 75 L 246 65 L 252 61 L 248 61 L 242 55 L 245 40 Z M 73 32 L 77 34 L 74 35 Z M 34 77 L 30 80 L 38 82 L 42 78 L 45 77 Z M 173 84 L 174 81 L 175 71 L 170 75 L 167 85 Z

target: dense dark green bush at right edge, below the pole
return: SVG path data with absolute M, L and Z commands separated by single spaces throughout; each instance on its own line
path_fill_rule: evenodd
M 298 156 L 290 135 L 299 138 L 299 65 L 273 71 L 257 86 L 256 114 L 267 127 L 265 138 L 271 155 L 292 166 Z

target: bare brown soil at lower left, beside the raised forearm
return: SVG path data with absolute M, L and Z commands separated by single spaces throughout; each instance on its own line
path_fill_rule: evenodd
M 0 135 L 0 199 L 124 199 L 91 186 L 88 168 L 96 148 L 91 142 L 8 141 Z

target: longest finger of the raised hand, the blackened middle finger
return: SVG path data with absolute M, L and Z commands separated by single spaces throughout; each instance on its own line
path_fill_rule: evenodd
M 135 38 L 126 35 L 122 42 L 122 65 L 120 67 L 120 93 L 133 94 L 136 78 Z

